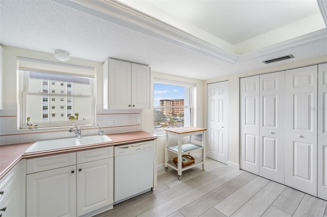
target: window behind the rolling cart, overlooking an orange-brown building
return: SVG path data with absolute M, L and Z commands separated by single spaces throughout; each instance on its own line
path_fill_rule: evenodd
M 191 126 L 195 84 L 155 79 L 154 133 L 164 134 L 165 127 Z

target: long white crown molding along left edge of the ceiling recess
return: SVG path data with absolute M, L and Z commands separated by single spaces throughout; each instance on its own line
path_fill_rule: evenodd
M 183 32 L 172 25 L 143 14 L 122 3 L 112 0 L 51 0 L 61 5 L 125 26 L 155 38 L 170 42 L 185 49 L 234 64 L 238 55 Z

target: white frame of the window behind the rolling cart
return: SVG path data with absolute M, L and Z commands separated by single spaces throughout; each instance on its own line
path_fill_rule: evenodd
M 189 97 L 184 97 L 184 106 L 153 106 L 154 110 L 158 110 L 160 108 L 184 108 L 184 126 L 192 126 L 194 124 L 193 120 L 195 119 L 194 114 L 194 92 L 196 91 L 196 84 L 193 83 L 186 83 L 186 82 L 179 82 L 176 80 L 168 80 L 162 78 L 154 78 L 154 83 L 156 84 L 166 84 L 166 85 L 173 85 L 173 86 L 181 86 L 184 87 L 184 91 L 188 91 Z M 185 94 L 185 93 L 184 93 Z M 188 105 L 185 105 L 188 104 Z M 190 114 L 187 115 L 185 110 L 190 110 Z M 155 121 L 153 120 L 153 125 Z M 158 134 L 164 135 L 164 134 Z

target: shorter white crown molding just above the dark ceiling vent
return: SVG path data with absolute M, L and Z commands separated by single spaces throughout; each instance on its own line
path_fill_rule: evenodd
M 274 44 L 262 49 L 253 50 L 247 53 L 243 53 L 238 57 L 237 63 L 245 62 L 248 60 L 256 59 L 265 55 L 270 55 L 271 53 L 289 50 L 292 48 L 300 47 L 316 41 L 327 41 L 327 29 L 322 29 L 307 35 L 299 36 L 294 39 L 290 39 L 278 44 Z

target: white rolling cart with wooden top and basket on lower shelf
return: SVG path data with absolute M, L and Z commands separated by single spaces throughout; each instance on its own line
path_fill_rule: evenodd
M 205 128 L 199 128 L 199 127 L 179 127 L 179 128 L 165 128 L 166 131 L 166 143 L 165 143 L 165 168 L 166 171 L 168 171 L 168 167 L 173 168 L 178 172 L 178 180 L 182 179 L 182 171 L 191 169 L 198 164 L 202 164 L 202 170 L 204 170 L 205 167 L 205 143 L 206 143 L 206 129 Z M 196 145 L 191 143 L 191 138 L 194 135 L 201 134 L 201 145 Z M 169 137 L 175 136 L 177 137 L 177 145 L 168 146 L 169 144 Z M 189 137 L 188 143 L 182 144 L 182 138 L 183 137 Z M 192 156 L 195 161 L 191 164 L 188 164 L 188 162 L 185 162 L 185 166 L 182 165 L 182 155 L 188 154 L 196 151 L 196 150 L 202 150 L 202 157 L 197 158 Z M 170 152 L 173 152 L 177 154 L 177 165 L 175 164 L 174 160 L 168 159 L 168 154 Z M 186 160 L 189 160 L 192 158 L 187 158 Z

